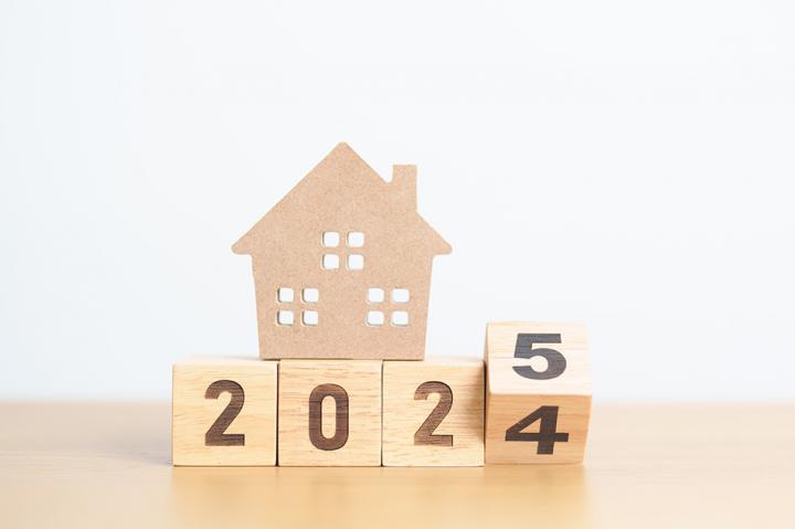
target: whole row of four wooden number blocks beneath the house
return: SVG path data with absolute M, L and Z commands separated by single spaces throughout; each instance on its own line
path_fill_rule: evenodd
M 173 367 L 174 465 L 479 466 L 582 462 L 585 329 L 489 324 L 474 358 Z

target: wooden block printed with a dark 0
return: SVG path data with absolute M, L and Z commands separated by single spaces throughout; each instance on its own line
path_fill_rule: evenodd
M 283 360 L 279 466 L 381 465 L 381 360 Z

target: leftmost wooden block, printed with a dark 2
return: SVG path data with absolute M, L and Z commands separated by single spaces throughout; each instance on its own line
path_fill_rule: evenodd
M 278 362 L 195 357 L 173 366 L 174 465 L 276 464 Z

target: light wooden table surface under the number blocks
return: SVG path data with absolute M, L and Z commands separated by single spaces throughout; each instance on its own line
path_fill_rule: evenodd
M 0 403 L 0 527 L 795 527 L 795 405 L 594 406 L 585 464 L 173 468 L 167 403 Z

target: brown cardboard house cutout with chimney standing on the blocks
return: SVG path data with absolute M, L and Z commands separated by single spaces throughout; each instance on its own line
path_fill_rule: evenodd
M 415 166 L 386 182 L 339 144 L 232 250 L 252 256 L 261 358 L 424 357 L 451 246 L 417 214 Z

